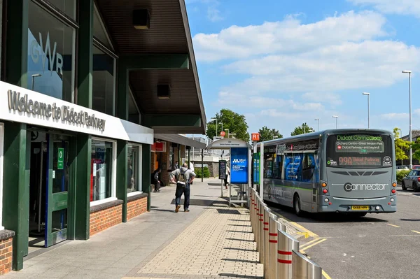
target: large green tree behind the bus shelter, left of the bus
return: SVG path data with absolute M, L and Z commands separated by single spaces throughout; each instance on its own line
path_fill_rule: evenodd
M 240 115 L 239 113 L 235 113 L 232 110 L 228 110 L 227 108 L 221 109 L 219 113 L 216 113 L 216 116 L 212 118 L 217 118 L 218 127 L 216 131 L 216 121 L 211 121 L 207 123 L 207 132 L 206 135 L 213 139 L 214 136 L 220 136 L 222 131 L 223 123 L 223 130 L 229 129 L 230 134 L 235 134 L 235 138 L 240 138 L 243 141 L 249 141 L 249 133 L 248 133 L 248 124 L 246 124 L 245 115 Z M 228 137 L 228 131 L 226 131 L 225 137 Z

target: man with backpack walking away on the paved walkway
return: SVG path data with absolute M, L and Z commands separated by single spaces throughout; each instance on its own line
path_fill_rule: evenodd
M 176 181 L 174 180 L 176 178 Z M 170 180 L 176 183 L 175 191 L 175 212 L 181 207 L 181 196 L 184 194 L 184 211 L 189 212 L 190 209 L 190 183 L 193 182 L 195 173 L 188 169 L 188 164 L 184 163 L 180 169 L 172 171 Z

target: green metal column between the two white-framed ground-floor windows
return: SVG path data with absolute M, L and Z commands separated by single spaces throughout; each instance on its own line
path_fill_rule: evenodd
M 127 222 L 127 145 L 127 141 L 117 141 L 117 199 L 124 201 L 123 222 Z

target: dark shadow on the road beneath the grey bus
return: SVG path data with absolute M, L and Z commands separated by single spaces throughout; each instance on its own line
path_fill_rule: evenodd
M 293 208 L 288 206 L 280 206 L 276 203 L 266 201 L 269 208 L 272 208 L 277 213 L 280 213 L 292 222 L 308 222 L 308 223 L 363 223 L 363 222 L 388 222 L 385 218 L 386 213 L 367 213 L 365 217 L 358 217 L 347 213 L 303 213 L 302 217 L 295 215 Z M 378 217 L 370 217 L 378 216 Z

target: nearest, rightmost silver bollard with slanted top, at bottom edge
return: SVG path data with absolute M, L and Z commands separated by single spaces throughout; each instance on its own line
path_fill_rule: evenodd
M 293 250 L 292 279 L 322 279 L 321 266 Z

